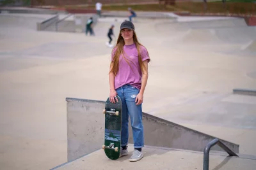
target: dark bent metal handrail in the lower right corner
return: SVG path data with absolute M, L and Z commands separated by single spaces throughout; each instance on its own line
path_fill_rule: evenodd
M 224 143 L 222 143 L 220 141 L 220 139 L 218 139 L 218 138 L 213 139 L 204 148 L 204 168 L 203 168 L 203 170 L 209 170 L 209 157 L 210 157 L 209 153 L 210 153 L 211 147 L 216 144 L 219 145 L 223 150 L 225 150 L 225 152 L 227 152 L 230 156 L 238 157 L 238 155 L 236 153 L 234 153 L 232 150 L 230 150 L 230 148 L 228 148 Z

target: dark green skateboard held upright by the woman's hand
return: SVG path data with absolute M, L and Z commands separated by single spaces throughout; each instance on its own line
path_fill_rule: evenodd
M 118 102 L 111 103 L 109 97 L 105 109 L 105 140 L 102 149 L 109 159 L 116 160 L 120 155 L 121 127 L 122 127 L 122 101 L 116 96 Z

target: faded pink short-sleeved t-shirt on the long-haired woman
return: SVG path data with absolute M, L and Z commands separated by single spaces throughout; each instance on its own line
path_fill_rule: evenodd
M 115 55 L 116 50 L 112 52 L 111 60 Z M 149 61 L 147 49 L 144 46 L 140 48 L 142 61 Z M 124 57 L 127 61 L 125 61 Z M 141 88 L 141 69 L 138 59 L 138 51 L 135 44 L 124 45 L 124 55 L 121 54 L 119 57 L 119 70 L 115 76 L 115 89 L 122 87 L 123 85 L 129 84 L 137 89 Z

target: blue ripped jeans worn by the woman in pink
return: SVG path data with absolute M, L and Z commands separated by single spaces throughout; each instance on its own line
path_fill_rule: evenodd
M 140 90 L 131 85 L 124 85 L 116 89 L 116 92 L 122 100 L 121 146 L 128 145 L 128 122 L 130 116 L 134 148 L 142 148 L 144 146 L 142 107 L 141 104 L 136 105 L 135 103 L 136 96 Z

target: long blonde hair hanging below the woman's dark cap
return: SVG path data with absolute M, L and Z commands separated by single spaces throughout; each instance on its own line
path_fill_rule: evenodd
M 138 38 L 136 36 L 136 32 L 135 31 L 132 31 L 132 32 L 133 32 L 133 41 L 136 45 L 137 52 L 138 52 L 138 58 L 139 58 L 141 73 L 145 73 L 146 66 L 143 64 L 143 61 L 142 61 L 142 58 L 141 58 L 141 53 L 140 53 L 140 48 L 143 45 L 141 45 L 141 43 L 138 41 Z M 124 38 L 122 37 L 121 31 L 120 31 L 119 35 L 118 35 L 118 38 L 117 38 L 116 46 L 112 50 L 112 53 L 115 52 L 115 54 L 114 54 L 113 59 L 112 59 L 111 64 L 110 64 L 111 70 L 109 71 L 109 73 L 113 73 L 115 76 L 116 76 L 116 74 L 118 73 L 118 70 L 119 70 L 119 57 L 120 57 L 121 54 L 124 55 L 124 45 L 125 45 Z M 124 59 L 125 59 L 125 57 L 124 57 Z M 131 67 L 131 65 L 127 61 L 127 59 L 125 59 L 125 60 L 129 64 L 129 66 Z

